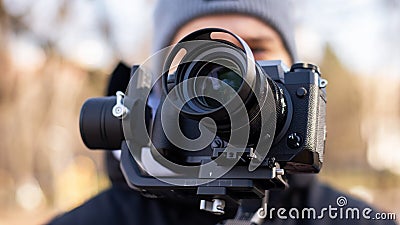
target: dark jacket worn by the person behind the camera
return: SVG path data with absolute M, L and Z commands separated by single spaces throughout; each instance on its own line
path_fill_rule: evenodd
M 191 225 L 208 225 L 217 224 L 226 218 L 212 215 L 211 213 L 200 211 L 198 202 L 178 202 L 173 199 L 150 199 L 142 196 L 139 192 L 130 189 L 119 170 L 118 162 L 113 159 L 110 153 L 107 157 L 108 170 L 112 179 L 112 186 L 90 199 L 78 208 L 65 213 L 50 224 L 53 225 L 172 225 L 172 224 L 191 224 Z M 275 208 L 272 219 L 267 215 L 264 224 L 313 224 L 313 225 L 339 225 L 339 224 L 395 224 L 390 220 L 374 220 L 376 210 L 369 213 L 370 220 L 364 219 L 362 211 L 369 207 L 366 203 L 359 201 L 346 194 L 320 183 L 314 175 L 298 175 L 290 177 L 290 188 L 285 191 L 271 191 L 268 207 Z M 343 207 L 337 205 L 337 199 L 345 197 L 347 204 Z M 321 215 L 322 208 L 329 209 L 337 208 L 334 212 L 337 213 L 336 219 L 329 217 L 329 211 L 323 211 L 323 218 L 318 219 Z M 260 201 L 247 200 L 243 202 L 242 209 L 247 212 L 255 212 L 260 207 Z M 316 211 L 316 219 L 299 217 L 300 219 L 290 219 L 288 212 L 292 208 L 299 211 L 300 216 L 302 209 L 313 207 Z M 280 219 L 277 217 L 277 210 L 285 208 L 288 219 Z M 340 219 L 340 208 L 343 210 L 342 218 Z M 360 212 L 360 219 L 351 219 L 351 212 L 348 212 L 346 219 L 346 209 L 357 208 Z M 292 210 L 293 211 L 293 210 Z M 292 213 L 295 214 L 295 211 Z M 305 212 L 307 213 L 307 212 Z M 292 215 L 294 215 L 292 214 Z M 242 214 L 245 215 L 245 214 Z M 281 215 L 281 216 L 282 216 Z M 247 216 L 247 218 L 251 217 Z M 356 218 L 356 217 L 354 217 Z

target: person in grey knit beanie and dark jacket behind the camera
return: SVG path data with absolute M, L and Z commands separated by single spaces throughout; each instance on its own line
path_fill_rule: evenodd
M 256 60 L 282 60 L 286 65 L 297 61 L 294 28 L 290 3 L 284 0 L 159 0 L 154 14 L 154 51 L 177 43 L 182 37 L 200 28 L 217 27 L 229 30 L 243 38 Z M 112 86 L 112 85 L 111 85 Z M 115 93 L 109 87 L 109 93 Z M 107 167 L 112 186 L 83 205 L 54 218 L 50 224 L 246 224 L 237 220 L 255 212 L 260 202 L 244 200 L 232 215 L 216 216 L 200 211 L 198 202 L 168 198 L 148 198 L 132 190 L 119 169 L 119 161 L 107 153 Z M 270 208 L 314 208 L 318 215 L 324 207 L 337 207 L 339 197 L 347 201 L 346 207 L 361 210 L 370 208 L 364 202 L 341 193 L 318 181 L 315 175 L 292 175 L 290 187 L 284 191 L 271 191 Z M 321 211 L 322 210 L 322 211 Z M 283 210 L 282 210 L 283 211 Z M 335 213 L 329 212 L 329 213 Z M 375 211 L 373 211 L 375 212 Z M 370 215 L 373 215 L 373 212 Z M 362 212 L 360 212 L 362 213 Z M 241 218 L 237 215 L 241 214 Z M 235 214 L 234 214 L 235 215 Z M 333 214 L 335 215 L 335 214 Z M 286 214 L 286 217 L 288 214 Z M 331 215 L 332 216 L 332 215 Z M 245 218 L 247 217 L 247 218 Z M 361 217 L 361 215 L 360 215 Z M 226 220 L 228 219 L 228 220 Z M 277 214 L 265 224 L 347 224 L 349 220 L 331 218 L 284 219 Z M 351 220 L 352 224 L 394 224 L 393 221 Z

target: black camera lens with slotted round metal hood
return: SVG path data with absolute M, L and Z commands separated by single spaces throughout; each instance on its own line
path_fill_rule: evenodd
M 185 54 L 178 61 L 175 73 L 165 74 L 164 90 L 172 93 L 171 99 L 177 102 L 175 108 L 183 117 L 196 121 L 211 118 L 216 134 L 226 141 L 233 132 L 244 132 L 248 127 L 248 146 L 255 146 L 261 136 L 266 140 L 280 132 L 287 118 L 286 99 L 242 39 L 233 35 L 240 42 L 238 46 L 212 39 L 213 32 L 233 35 L 219 29 L 200 30 L 172 49 L 164 71 L 169 71 L 181 49 Z M 167 81 L 174 85 L 168 87 Z

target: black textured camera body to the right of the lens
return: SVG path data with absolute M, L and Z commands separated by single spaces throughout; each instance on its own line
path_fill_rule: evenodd
M 289 173 L 318 173 L 326 141 L 327 81 L 311 64 L 294 64 L 286 72 L 278 62 L 259 64 L 285 90 L 292 111 L 290 125 L 276 137 L 267 157 L 275 157 Z

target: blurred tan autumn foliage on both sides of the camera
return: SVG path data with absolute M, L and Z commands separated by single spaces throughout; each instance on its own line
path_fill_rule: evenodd
M 67 1 L 63 2 L 59 21 L 68 11 Z M 112 46 L 107 23 L 101 21 L 100 26 Z M 77 65 L 66 59 L 52 40 L 40 38 L 36 44 L 45 53 L 43 65 L 28 70 L 15 64 L 9 54 L 11 39 L 30 30 L 21 17 L 5 11 L 2 1 L 0 33 L 0 224 L 1 218 L 9 215 L 9 220 L 20 219 L 20 212 L 33 212 L 44 221 L 109 185 L 103 154 L 85 148 L 78 128 L 81 105 L 89 97 L 103 95 L 109 71 Z M 399 176 L 370 167 L 366 156 L 369 136 L 362 130 L 365 118 L 392 113 L 387 108 L 396 105 L 383 102 L 386 98 L 399 101 L 399 97 L 389 96 L 376 80 L 361 78 L 345 68 L 329 45 L 320 67 L 329 81 L 328 140 L 320 177 L 342 190 L 355 190 L 361 198 L 375 196 L 371 201 L 382 208 L 400 209 Z M 400 88 L 397 92 L 400 94 Z M 387 107 L 379 111 L 376 108 L 385 107 L 372 102 L 381 100 Z M 391 116 L 400 117 L 399 105 Z M 43 211 L 46 213 L 38 214 Z

